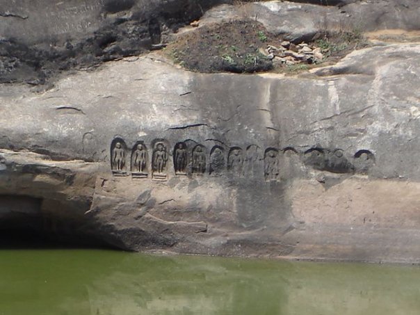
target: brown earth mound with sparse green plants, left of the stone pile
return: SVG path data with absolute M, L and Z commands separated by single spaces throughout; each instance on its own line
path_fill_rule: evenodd
M 259 51 L 268 41 L 259 22 L 236 20 L 202 26 L 165 49 L 177 63 L 196 72 L 258 72 L 273 68 Z

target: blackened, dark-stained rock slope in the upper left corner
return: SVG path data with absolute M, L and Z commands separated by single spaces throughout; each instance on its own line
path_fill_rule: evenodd
M 0 83 L 45 83 L 63 70 L 159 44 L 220 0 L 0 1 Z

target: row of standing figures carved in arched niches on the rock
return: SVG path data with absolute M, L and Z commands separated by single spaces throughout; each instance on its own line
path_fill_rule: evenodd
M 156 180 L 168 178 L 168 142 L 163 139 L 154 140 L 151 143 L 152 161 L 149 163 L 149 153 L 143 141 L 138 141 L 131 149 L 129 165 L 127 165 L 128 147 L 122 138 L 115 138 L 111 143 L 111 169 L 115 176 L 127 176 L 130 170 L 134 178 L 146 178 L 149 173 Z M 278 180 L 280 174 L 280 153 L 284 156 L 303 156 L 303 162 L 318 170 L 330 172 L 353 172 L 357 168 L 365 172 L 375 161 L 373 154 L 368 150 L 356 152 L 353 159 L 348 161 L 342 150 L 328 150 L 312 148 L 306 152 L 298 152 L 292 147 L 278 150 L 268 147 L 264 155 L 260 153 L 257 145 L 249 145 L 244 153 L 241 147 L 230 147 L 225 160 L 225 148 L 214 145 L 209 154 L 207 147 L 194 144 L 188 147 L 186 142 L 179 142 L 173 149 L 172 159 L 175 175 L 186 177 L 188 173 L 203 175 L 220 175 L 225 169 L 234 175 L 253 174 L 255 164 L 264 160 L 264 177 L 266 180 Z

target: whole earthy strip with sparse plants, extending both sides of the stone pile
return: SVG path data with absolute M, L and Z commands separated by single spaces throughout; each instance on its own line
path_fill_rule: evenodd
M 252 19 L 237 19 L 223 24 L 207 24 L 182 33 L 166 47 L 165 54 L 194 72 L 293 74 L 325 62 L 337 62 L 350 51 L 369 45 L 360 33 L 319 33 L 309 43 L 307 56 L 316 49 L 321 58 L 307 58 L 302 56 L 300 48 L 289 51 L 288 56 L 282 42 L 282 36 L 269 33 L 263 24 Z M 308 47 L 301 42 L 292 44 L 293 47 L 302 47 L 302 44 Z M 273 51 L 277 52 L 273 54 Z

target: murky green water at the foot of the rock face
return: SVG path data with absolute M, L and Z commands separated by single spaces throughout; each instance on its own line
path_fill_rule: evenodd
M 420 268 L 0 250 L 0 315 L 420 314 Z

